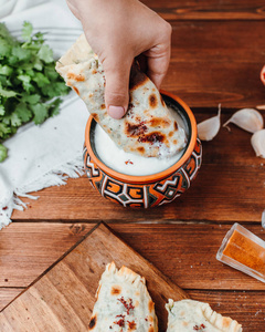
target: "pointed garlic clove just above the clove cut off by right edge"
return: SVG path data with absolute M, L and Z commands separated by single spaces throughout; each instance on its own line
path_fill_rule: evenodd
M 264 124 L 262 114 L 254 108 L 243 108 L 235 112 L 223 126 L 227 126 L 231 122 L 250 133 L 261 131 Z

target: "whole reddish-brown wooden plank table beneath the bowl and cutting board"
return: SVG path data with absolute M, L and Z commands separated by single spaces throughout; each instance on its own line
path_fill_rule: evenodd
M 162 87 L 183 98 L 198 122 L 216 114 L 219 103 L 222 122 L 240 107 L 265 104 L 264 1 L 144 2 L 173 27 Z M 221 128 L 203 143 L 203 165 L 188 193 L 151 210 L 107 201 L 85 176 L 38 193 L 0 231 L 0 309 L 104 220 L 193 299 L 236 319 L 245 332 L 265 331 L 265 284 L 215 259 L 234 222 L 265 240 L 265 160 L 255 157 L 250 138 L 235 126 Z

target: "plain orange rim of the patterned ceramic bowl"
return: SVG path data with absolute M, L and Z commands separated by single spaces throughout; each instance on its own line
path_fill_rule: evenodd
M 177 169 L 179 169 L 191 156 L 194 147 L 195 147 L 195 143 L 197 143 L 197 122 L 195 122 L 195 117 L 192 113 L 192 111 L 190 110 L 190 107 L 178 96 L 176 96 L 174 94 L 160 90 L 160 93 L 169 96 L 170 98 L 172 98 L 173 101 L 176 101 L 177 103 L 179 103 L 183 110 L 186 111 L 189 120 L 190 120 L 190 131 L 191 131 L 191 135 L 190 135 L 190 142 L 189 145 L 184 152 L 184 154 L 181 156 L 181 158 L 173 164 L 172 166 L 170 166 L 169 168 L 156 173 L 156 174 L 151 174 L 151 175 L 145 175 L 145 176 L 136 176 L 136 175 L 127 175 L 127 174 L 123 174 L 119 173 L 117 170 L 114 170 L 113 168 L 108 167 L 106 164 L 104 164 L 94 153 L 94 149 L 92 147 L 91 144 L 91 128 L 92 128 L 92 124 L 93 124 L 93 116 L 89 116 L 87 124 L 86 124 L 86 128 L 85 128 L 85 145 L 87 148 L 87 152 L 91 156 L 91 158 L 93 159 L 93 162 L 98 166 L 99 169 L 102 169 L 104 173 L 106 173 L 107 175 L 121 180 L 124 183 L 134 183 L 134 184 L 142 184 L 142 183 L 153 183 L 153 181 L 158 181 L 162 178 L 167 178 L 168 176 L 170 176 L 172 173 L 174 173 Z

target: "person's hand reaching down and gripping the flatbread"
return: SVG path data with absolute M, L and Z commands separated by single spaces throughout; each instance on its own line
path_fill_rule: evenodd
M 128 108 L 135 58 L 145 58 L 147 75 L 160 87 L 170 60 L 171 25 L 138 0 L 66 1 L 103 63 L 108 114 L 121 118 Z

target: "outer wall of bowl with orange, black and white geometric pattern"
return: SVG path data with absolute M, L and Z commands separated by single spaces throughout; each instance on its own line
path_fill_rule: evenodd
M 189 159 L 171 175 L 153 183 L 128 184 L 99 169 L 84 146 L 85 172 L 92 186 L 105 198 L 124 207 L 149 208 L 172 201 L 190 187 L 201 167 L 201 159 L 202 146 L 197 138 Z

